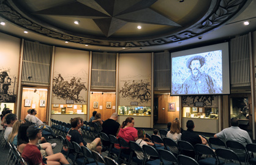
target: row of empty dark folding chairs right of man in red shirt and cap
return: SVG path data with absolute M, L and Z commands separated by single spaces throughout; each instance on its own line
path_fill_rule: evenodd
M 63 136 L 59 136 L 59 139 L 62 142 L 64 147 L 67 147 L 68 150 L 65 152 L 63 149 L 61 153 L 66 155 L 66 158 L 72 160 L 72 164 L 109 164 L 109 165 L 118 165 L 115 160 L 112 158 L 105 156 L 103 158 L 99 153 L 96 151 L 91 151 L 85 146 L 81 146 L 77 144 L 77 142 L 69 142 Z

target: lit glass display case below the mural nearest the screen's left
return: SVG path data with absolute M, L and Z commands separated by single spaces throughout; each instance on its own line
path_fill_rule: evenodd
M 118 114 L 123 116 L 151 116 L 151 106 L 118 106 Z

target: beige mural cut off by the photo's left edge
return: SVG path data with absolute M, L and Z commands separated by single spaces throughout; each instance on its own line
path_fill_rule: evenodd
M 17 97 L 20 39 L 0 33 L 0 103 L 15 103 Z

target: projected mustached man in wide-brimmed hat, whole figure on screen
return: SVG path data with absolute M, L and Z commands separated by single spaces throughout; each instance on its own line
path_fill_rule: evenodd
M 192 56 L 186 62 L 191 75 L 184 81 L 183 94 L 214 94 L 215 88 L 211 76 L 200 71 L 205 65 L 205 57 Z

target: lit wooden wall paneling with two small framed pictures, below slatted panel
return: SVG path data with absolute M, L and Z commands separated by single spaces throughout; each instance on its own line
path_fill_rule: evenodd
M 93 102 L 98 101 L 99 107 L 93 108 Z M 107 102 L 111 102 L 111 108 L 107 108 Z M 115 112 L 116 110 L 113 109 L 113 106 L 116 105 L 116 95 L 115 94 L 107 94 L 104 93 L 96 93 L 94 92 L 90 96 L 90 110 L 89 110 L 89 118 L 92 117 L 92 112 L 97 111 L 101 114 L 102 120 L 107 120 L 110 118 L 111 114 Z M 102 109 L 100 109 L 100 106 L 102 106 Z

